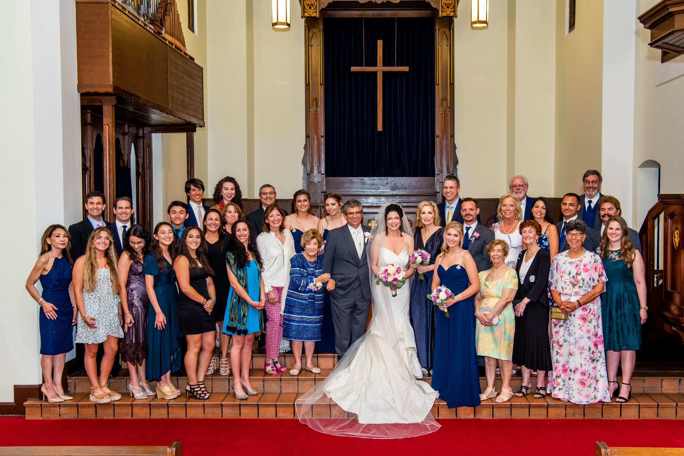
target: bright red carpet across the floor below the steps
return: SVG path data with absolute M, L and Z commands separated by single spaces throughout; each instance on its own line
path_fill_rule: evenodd
M 438 420 L 439 431 L 402 440 L 333 437 L 297 420 L 25 420 L 0 418 L 0 446 L 168 445 L 183 456 L 593 455 L 609 446 L 684 446 L 681 420 Z M 391 452 L 391 453 L 389 453 Z

